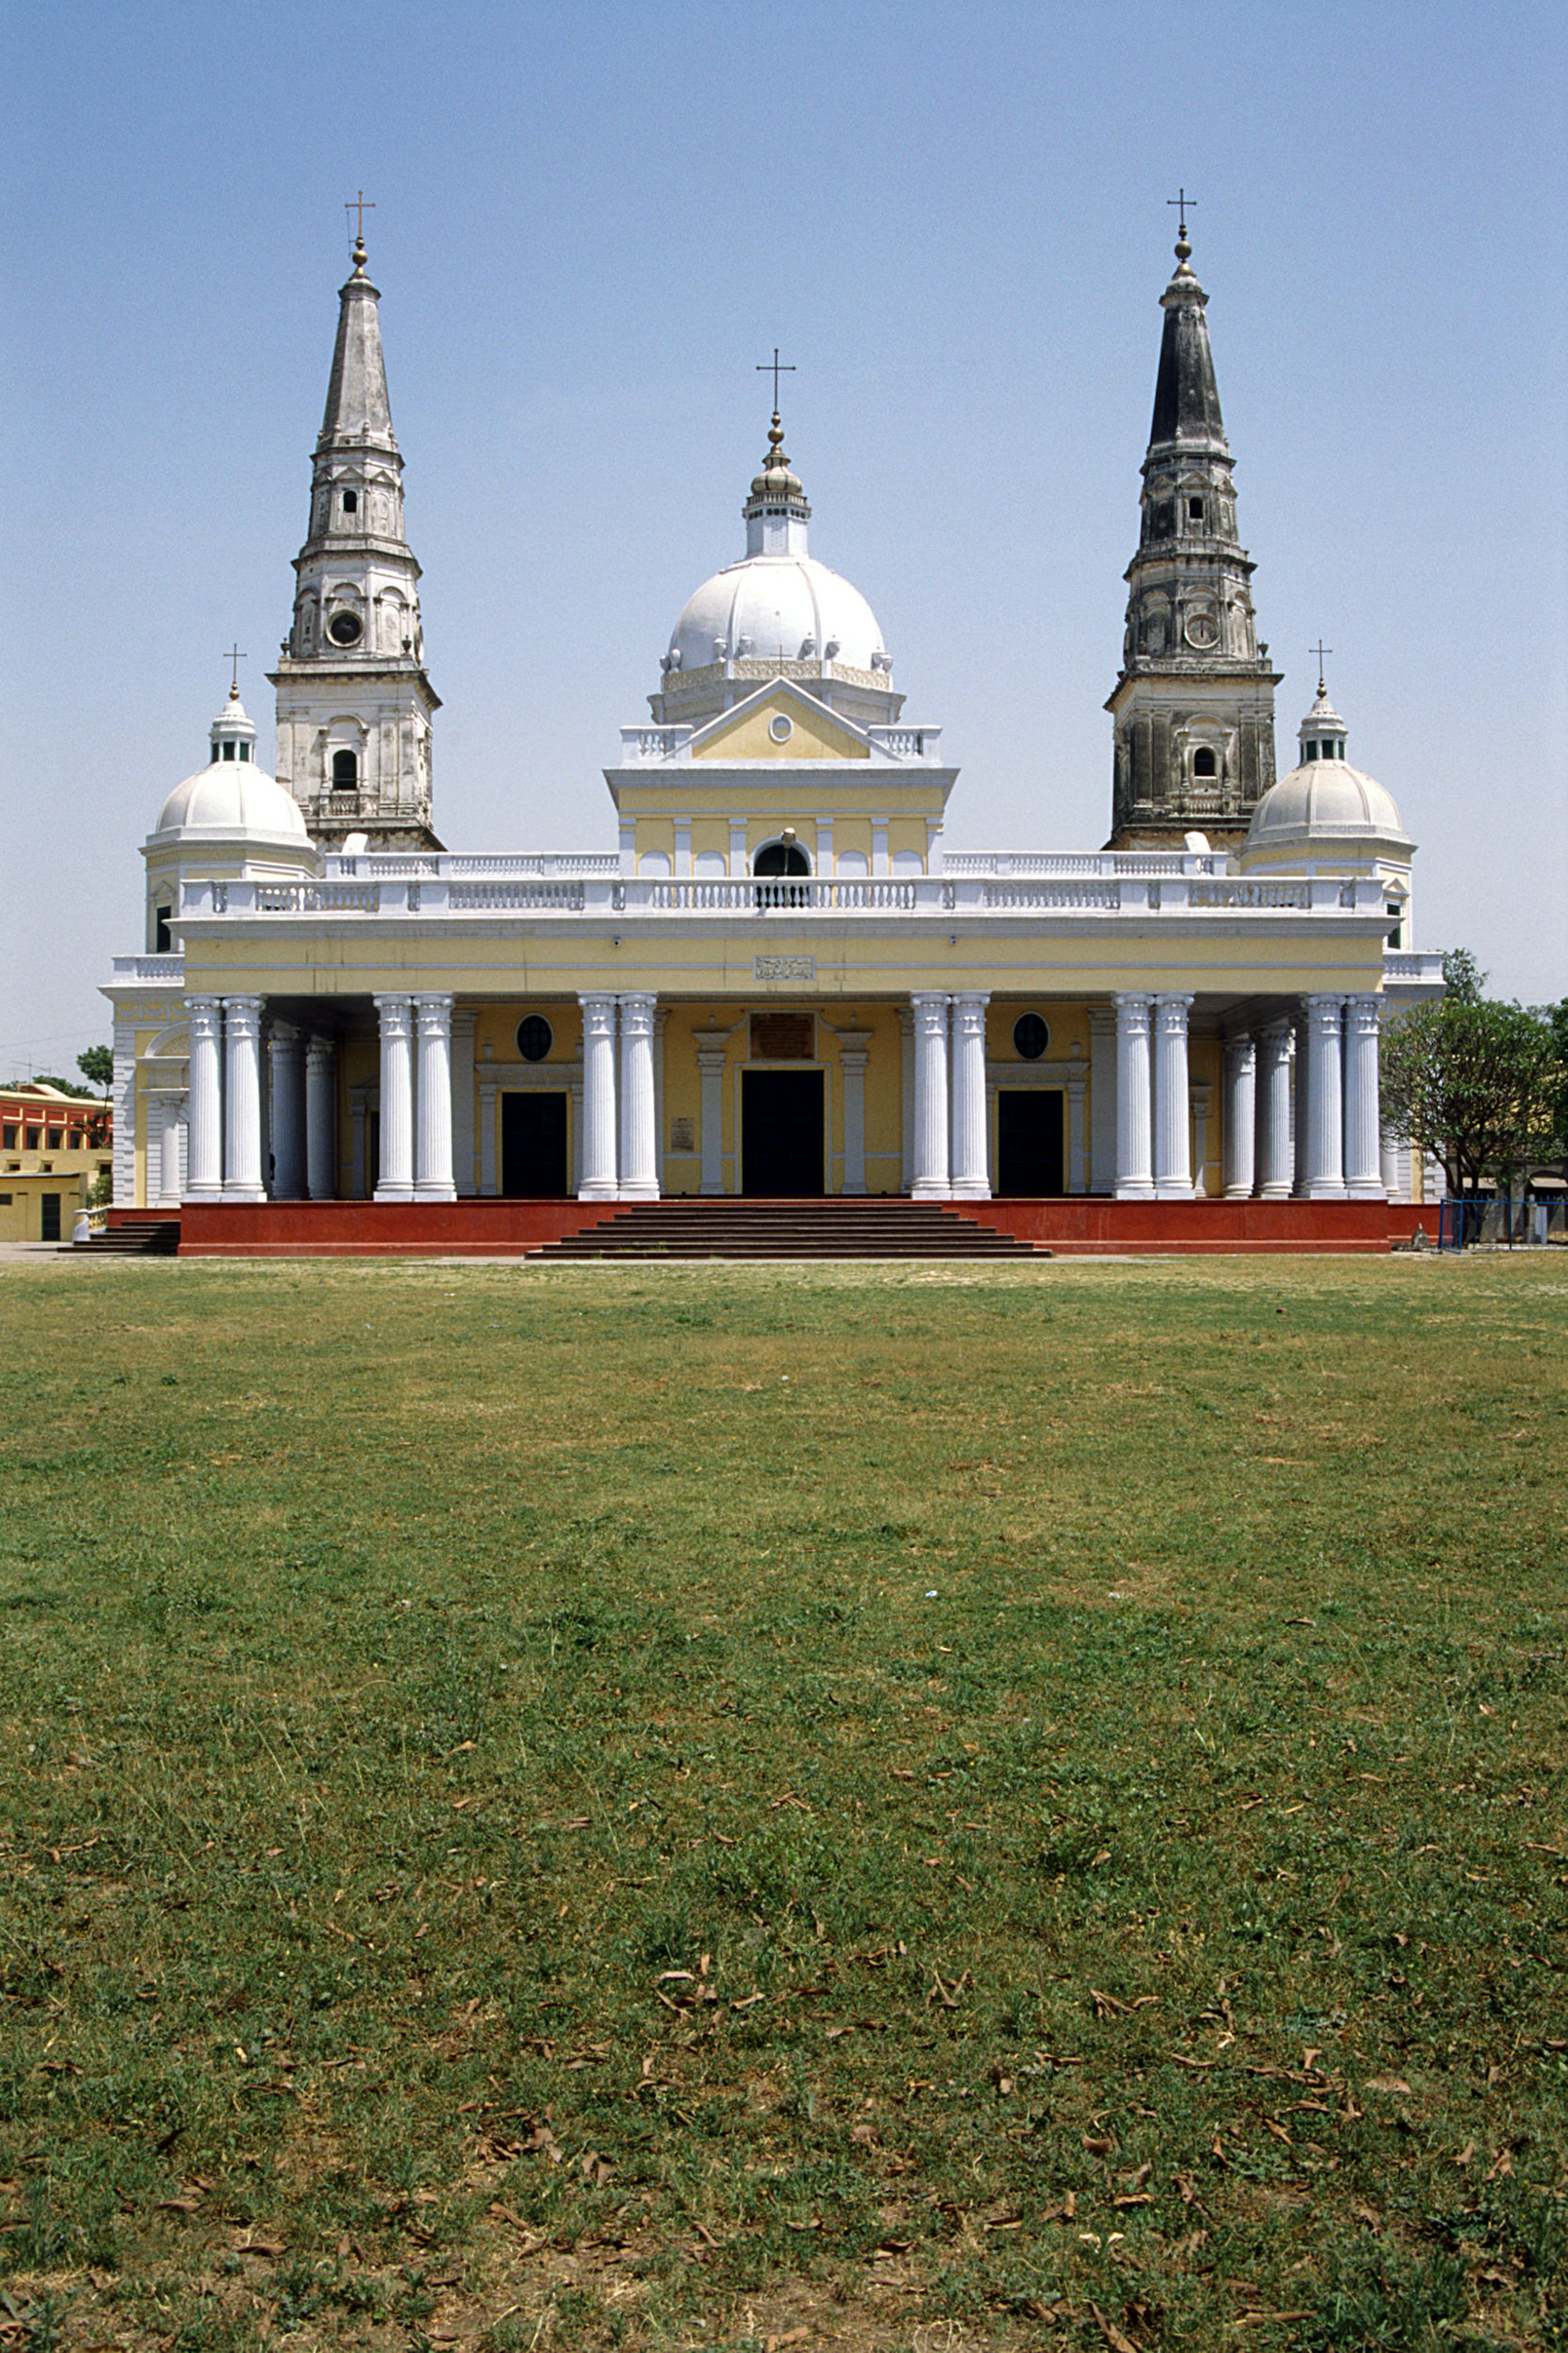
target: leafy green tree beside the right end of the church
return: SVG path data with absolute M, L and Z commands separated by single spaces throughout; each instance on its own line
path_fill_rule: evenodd
M 1486 974 L 1457 948 L 1448 993 L 1391 1021 L 1382 1038 L 1382 1125 L 1443 1162 L 1450 1193 L 1476 1193 L 1552 1153 L 1563 1056 L 1554 1026 L 1486 998 Z

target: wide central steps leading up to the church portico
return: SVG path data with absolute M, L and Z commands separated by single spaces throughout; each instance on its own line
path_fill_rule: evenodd
M 1048 1259 L 1050 1252 L 902 1198 L 640 1200 L 544 1242 L 537 1259 Z

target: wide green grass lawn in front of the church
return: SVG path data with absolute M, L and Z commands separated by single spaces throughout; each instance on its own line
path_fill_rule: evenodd
M 1568 2344 L 1561 1257 L 0 1320 L 0 2348 Z

